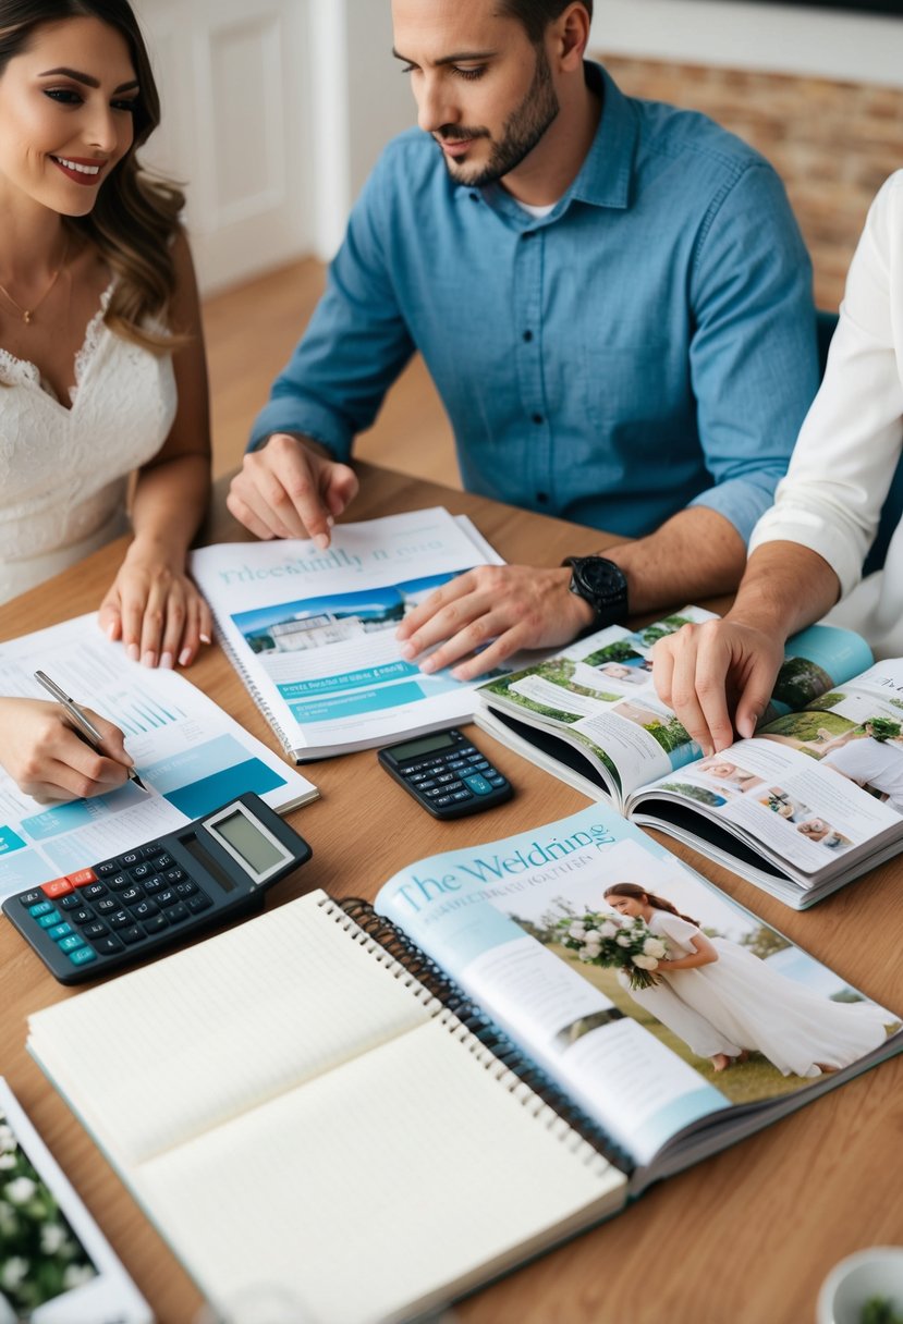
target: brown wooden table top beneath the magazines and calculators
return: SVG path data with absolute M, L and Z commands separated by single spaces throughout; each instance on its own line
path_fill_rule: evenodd
M 598 549 L 593 530 L 515 511 L 388 470 L 360 466 L 352 514 L 444 504 L 469 514 L 510 561 L 556 564 Z M 221 493 L 220 493 L 221 498 Z M 208 540 L 242 532 L 217 503 Z M 33 593 L 0 608 L 11 638 L 97 606 L 122 555 L 114 544 Z M 269 727 L 214 646 L 191 679 L 275 747 Z M 322 798 L 291 816 L 314 846 L 299 882 L 269 904 L 312 884 L 336 896 L 373 896 L 421 855 L 490 841 L 549 822 L 587 801 L 481 733 L 481 744 L 518 788 L 491 814 L 438 824 L 399 793 L 372 751 L 307 765 Z M 363 793 L 365 789 L 365 793 Z M 392 830 L 387 831 L 391 821 Z M 348 831 L 350 824 L 354 831 Z M 665 838 L 661 838 L 665 841 Z M 361 863 L 357 842 L 367 841 Z M 671 845 L 665 841 L 665 845 Z M 674 849 L 674 847 L 671 847 Z M 824 959 L 875 1001 L 903 1005 L 903 865 L 894 861 L 798 915 L 690 851 L 675 850 L 727 892 Z M 303 879 L 303 883 L 302 883 Z M 147 1296 L 160 1324 L 191 1324 L 193 1283 L 25 1053 L 25 1018 L 73 996 L 57 984 L 8 923 L 0 925 L 0 1072 Z M 832 1264 L 863 1246 L 903 1243 L 903 1059 L 845 1084 L 722 1155 L 653 1188 L 612 1222 L 535 1260 L 461 1303 L 461 1324 L 808 1324 Z M 438 1200 L 441 1194 L 437 1193 Z M 340 1229 L 339 1229 L 340 1234 Z M 361 1266 L 365 1250 L 361 1247 Z M 330 1324 L 330 1321 L 326 1321 Z

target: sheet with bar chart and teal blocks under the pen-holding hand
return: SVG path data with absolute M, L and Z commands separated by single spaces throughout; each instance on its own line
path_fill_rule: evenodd
M 122 728 L 146 789 L 127 781 L 45 805 L 0 768 L 0 899 L 175 831 L 245 790 L 281 812 L 318 796 L 185 677 L 130 662 L 94 613 L 0 643 L 0 694 L 46 699 L 38 669 Z

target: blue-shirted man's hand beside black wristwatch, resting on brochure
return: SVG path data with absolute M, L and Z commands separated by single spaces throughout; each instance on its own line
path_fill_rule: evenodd
M 568 643 L 592 620 L 589 605 L 571 593 L 569 583 L 569 569 L 478 565 L 405 617 L 396 632 L 405 645 L 401 654 L 413 659 L 445 639 L 421 671 L 457 662 L 455 679 L 473 681 L 520 649 Z

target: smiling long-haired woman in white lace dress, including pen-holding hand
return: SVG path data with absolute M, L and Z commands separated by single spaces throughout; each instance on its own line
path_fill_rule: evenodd
M 99 622 L 147 666 L 209 641 L 185 572 L 209 487 L 204 347 L 181 193 L 136 148 L 159 123 L 127 0 L 0 0 L 0 601 L 127 527 Z M 56 704 L 0 699 L 0 760 L 40 800 L 111 790 Z

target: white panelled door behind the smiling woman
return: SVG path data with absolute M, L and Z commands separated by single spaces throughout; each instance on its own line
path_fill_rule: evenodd
M 204 293 L 312 248 L 306 0 L 138 0 Z

